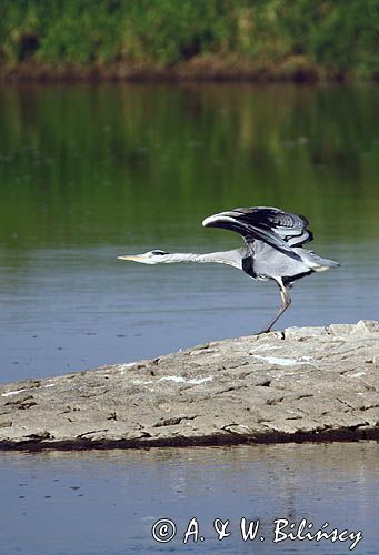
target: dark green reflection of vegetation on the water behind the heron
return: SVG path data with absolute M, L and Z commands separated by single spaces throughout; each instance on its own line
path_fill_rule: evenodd
M 260 204 L 320 241 L 377 238 L 378 104 L 373 85 L 3 88 L 0 245 L 235 244 L 202 218 Z

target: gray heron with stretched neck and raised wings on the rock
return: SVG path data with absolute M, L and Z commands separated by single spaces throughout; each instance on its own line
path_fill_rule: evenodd
M 313 239 L 309 222 L 301 214 L 283 212 L 278 208 L 237 208 L 206 218 L 205 228 L 220 228 L 239 233 L 245 245 L 231 251 L 196 253 L 169 253 L 161 250 L 143 254 L 118 256 L 143 264 L 171 264 L 199 262 L 227 264 L 242 270 L 252 280 L 271 280 L 277 283 L 281 304 L 275 317 L 259 332 L 267 333 L 290 306 L 289 287 L 293 282 L 313 272 L 323 272 L 340 264 L 322 259 L 303 244 Z

